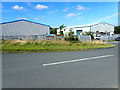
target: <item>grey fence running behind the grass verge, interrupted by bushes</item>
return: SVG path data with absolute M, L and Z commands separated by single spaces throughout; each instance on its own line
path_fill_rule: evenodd
M 115 40 L 117 37 L 120 37 L 120 34 L 114 34 L 111 36 L 101 36 L 100 40 L 108 41 Z M 64 39 L 62 36 L 46 36 L 46 35 L 17 35 L 17 36 L 2 36 L 2 40 L 61 40 Z M 86 35 L 78 35 L 79 41 L 89 41 L 91 42 L 91 37 Z

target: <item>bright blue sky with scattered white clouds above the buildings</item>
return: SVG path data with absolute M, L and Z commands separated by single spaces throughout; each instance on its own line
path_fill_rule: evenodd
M 2 21 L 26 19 L 59 27 L 106 22 L 118 25 L 117 2 L 2 2 Z

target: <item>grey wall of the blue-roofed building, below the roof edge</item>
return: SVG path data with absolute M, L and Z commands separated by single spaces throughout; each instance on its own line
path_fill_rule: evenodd
M 44 35 L 50 34 L 49 26 L 44 26 L 27 21 L 18 21 L 13 23 L 1 24 L 2 36 L 16 35 Z

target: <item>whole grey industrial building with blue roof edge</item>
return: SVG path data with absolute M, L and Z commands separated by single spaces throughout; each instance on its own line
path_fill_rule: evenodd
M 1 23 L 2 39 L 45 39 L 50 34 L 50 26 L 28 20 Z

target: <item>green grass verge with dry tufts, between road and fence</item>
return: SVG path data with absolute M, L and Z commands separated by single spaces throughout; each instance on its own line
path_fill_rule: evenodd
M 1 43 L 2 52 L 57 52 L 57 51 L 81 51 L 96 48 L 114 47 L 102 41 L 92 42 L 68 42 L 64 40 L 4 40 Z

